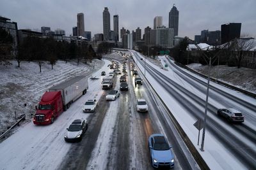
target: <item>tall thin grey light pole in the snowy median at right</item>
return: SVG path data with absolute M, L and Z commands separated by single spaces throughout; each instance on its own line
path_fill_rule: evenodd
M 205 127 L 206 127 L 206 117 L 207 117 L 207 105 L 208 105 L 208 96 L 209 96 L 211 61 L 212 61 L 212 57 L 210 57 L 209 71 L 208 71 L 208 81 L 207 81 L 207 91 L 206 91 L 205 111 L 204 111 L 204 129 L 203 129 L 202 143 L 201 143 L 201 148 L 200 148 L 200 150 L 201 150 L 202 152 L 204 152 L 204 138 L 205 138 Z

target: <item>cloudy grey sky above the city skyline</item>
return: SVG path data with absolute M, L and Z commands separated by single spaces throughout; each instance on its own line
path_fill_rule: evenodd
M 179 36 L 189 36 L 209 29 L 220 30 L 221 24 L 241 22 L 241 34 L 256 37 L 255 0 L 0 0 L 0 15 L 18 23 L 18 29 L 64 29 L 72 34 L 77 13 L 84 13 L 85 31 L 102 33 L 102 11 L 108 7 L 113 30 L 113 15 L 119 15 L 119 28 L 130 31 L 153 27 L 154 17 L 163 16 L 168 27 L 168 15 L 173 4 L 179 10 Z

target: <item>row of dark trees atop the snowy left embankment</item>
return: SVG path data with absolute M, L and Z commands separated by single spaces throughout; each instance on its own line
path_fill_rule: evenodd
M 22 43 L 16 46 L 13 44 L 12 36 L 0 29 L 0 62 L 8 62 L 13 59 L 17 60 L 18 67 L 22 61 L 35 61 L 38 63 L 41 73 L 42 64 L 45 62 L 51 64 L 52 68 L 57 60 L 76 60 L 77 65 L 83 60 L 85 63 L 92 59 L 101 59 L 86 42 L 79 45 L 76 41 L 55 41 L 52 38 L 38 38 L 36 36 L 28 36 L 23 39 Z

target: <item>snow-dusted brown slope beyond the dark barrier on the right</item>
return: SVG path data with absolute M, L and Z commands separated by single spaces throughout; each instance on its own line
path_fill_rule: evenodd
M 198 71 L 199 73 L 208 74 L 208 66 L 202 64 L 193 63 L 188 67 Z M 246 67 L 228 67 L 228 66 L 212 66 L 211 77 L 218 80 L 234 85 L 240 89 L 247 90 L 256 94 L 256 69 L 249 69 Z

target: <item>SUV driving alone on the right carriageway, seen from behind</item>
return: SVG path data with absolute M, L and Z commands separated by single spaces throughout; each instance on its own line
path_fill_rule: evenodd
M 244 122 L 243 113 L 234 108 L 219 109 L 217 115 L 226 118 L 228 122 Z

